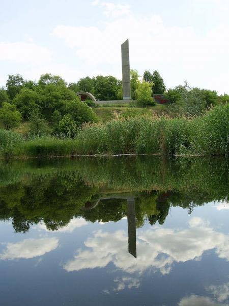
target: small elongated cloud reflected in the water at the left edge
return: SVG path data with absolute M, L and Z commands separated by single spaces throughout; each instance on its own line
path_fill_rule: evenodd
M 42 256 L 58 247 L 57 238 L 24 239 L 17 243 L 8 243 L 6 249 L 0 254 L 1 260 L 34 258 Z

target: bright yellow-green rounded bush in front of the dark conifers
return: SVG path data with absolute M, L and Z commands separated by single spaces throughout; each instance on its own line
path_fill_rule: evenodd
M 149 105 L 155 105 L 154 99 L 152 98 L 152 83 L 142 81 L 138 84 L 136 89 L 137 104 L 141 107 Z

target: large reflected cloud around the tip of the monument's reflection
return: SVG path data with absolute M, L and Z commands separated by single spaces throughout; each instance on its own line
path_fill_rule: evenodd
M 102 268 L 112 262 L 128 273 L 141 273 L 152 268 L 166 274 L 174 262 L 199 260 L 206 250 L 214 248 L 218 257 L 229 261 L 228 236 L 215 232 L 201 219 L 194 218 L 190 225 L 179 231 L 153 228 L 139 233 L 137 260 L 128 254 L 128 238 L 123 231 L 112 234 L 98 231 L 84 242 L 87 248 L 78 249 L 74 259 L 69 260 L 64 269 Z

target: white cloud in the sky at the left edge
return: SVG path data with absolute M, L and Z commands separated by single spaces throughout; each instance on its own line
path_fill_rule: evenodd
M 0 61 L 39 64 L 51 59 L 48 48 L 32 42 L 0 42 Z

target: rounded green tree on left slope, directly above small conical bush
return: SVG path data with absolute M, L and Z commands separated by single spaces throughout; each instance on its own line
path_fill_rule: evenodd
M 22 88 L 13 98 L 12 103 L 15 104 L 20 110 L 23 118 L 28 119 L 31 112 L 35 112 L 36 110 L 40 109 L 42 99 L 42 95 L 38 92 L 32 89 Z

